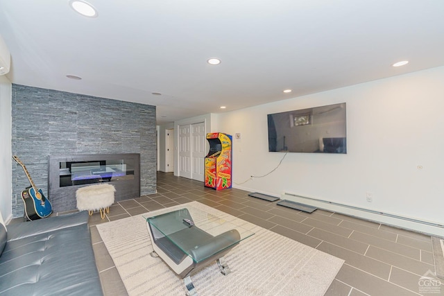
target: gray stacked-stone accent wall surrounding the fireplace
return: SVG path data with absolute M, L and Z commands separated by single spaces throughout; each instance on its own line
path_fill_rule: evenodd
M 48 156 L 139 153 L 140 192 L 156 191 L 155 106 L 12 85 L 12 155 L 48 194 Z M 12 215 L 24 214 L 28 179 L 12 164 Z M 47 196 L 51 200 L 51 196 Z

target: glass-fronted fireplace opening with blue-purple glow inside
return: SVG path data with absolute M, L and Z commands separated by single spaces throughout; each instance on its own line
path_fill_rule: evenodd
M 60 162 L 60 187 L 134 179 L 133 159 Z

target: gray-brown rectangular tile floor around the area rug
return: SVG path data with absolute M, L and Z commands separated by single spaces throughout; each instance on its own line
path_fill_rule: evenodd
M 214 191 L 202 182 L 157 173 L 157 193 L 117 202 L 103 220 L 98 213 L 90 218 L 105 295 L 126 290 L 95 225 L 193 200 L 344 259 L 326 295 L 419 295 L 420 277 L 435 271 L 430 236 L 321 209 L 307 214 L 239 189 Z

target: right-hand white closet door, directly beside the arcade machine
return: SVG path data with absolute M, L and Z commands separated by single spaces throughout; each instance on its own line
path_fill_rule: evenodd
M 202 181 L 205 174 L 205 156 L 207 155 L 207 134 L 205 124 L 194 123 L 191 125 L 191 179 Z

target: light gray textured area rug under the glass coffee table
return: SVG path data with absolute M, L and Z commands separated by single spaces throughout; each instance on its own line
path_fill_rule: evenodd
M 224 256 L 232 271 L 224 276 L 216 263 L 191 275 L 198 295 L 324 295 L 343 260 L 280 234 L 207 207 L 191 205 L 255 232 Z M 132 295 L 185 295 L 183 281 L 160 258 L 153 258 L 146 221 L 165 209 L 97 225 L 123 284 Z

